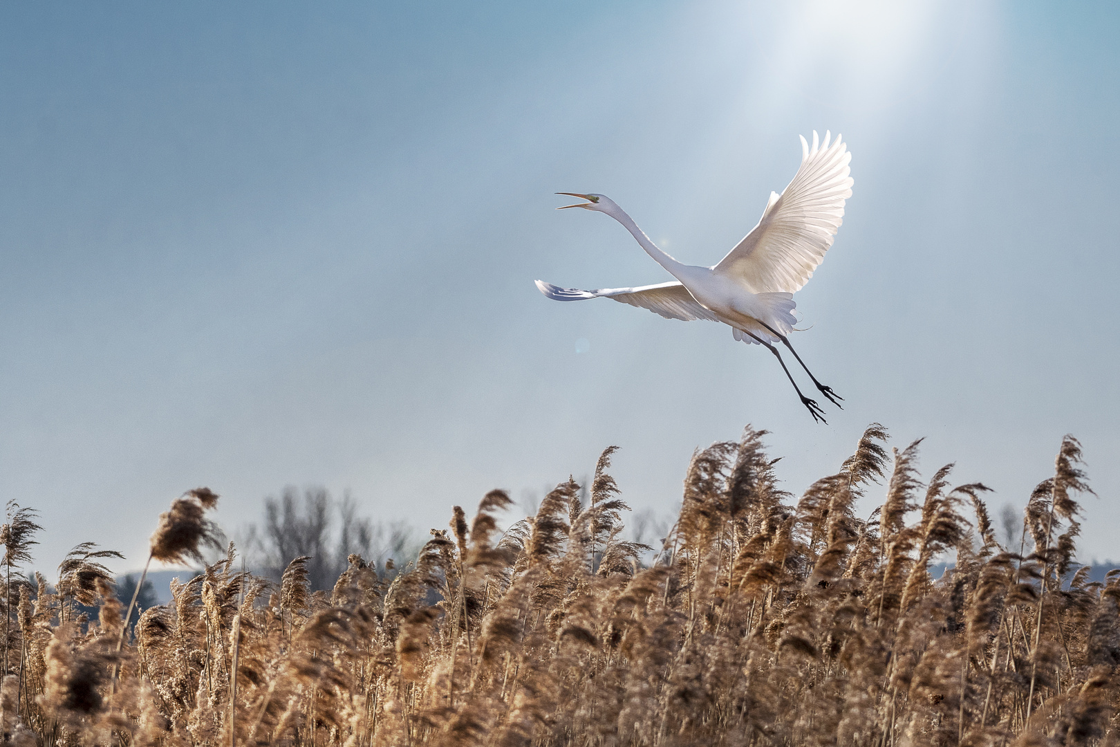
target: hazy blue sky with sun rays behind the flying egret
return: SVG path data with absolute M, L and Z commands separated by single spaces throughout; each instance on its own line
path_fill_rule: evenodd
M 1021 505 L 1063 433 L 1082 558 L 1120 558 L 1114 3 L 8 3 L 0 9 L 0 491 L 35 566 L 138 568 L 159 512 L 284 485 L 446 526 L 605 446 L 668 511 L 692 449 L 773 431 L 785 487 L 872 421 Z M 816 424 L 703 321 L 533 280 L 711 264 L 842 132 L 856 180 L 797 293 Z M 880 493 L 875 493 L 878 497 Z

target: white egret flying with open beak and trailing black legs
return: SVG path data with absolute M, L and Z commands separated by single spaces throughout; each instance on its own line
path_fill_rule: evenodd
M 637 288 L 579 290 L 538 280 L 536 287 L 557 301 L 613 298 L 650 309 L 668 319 L 722 321 L 731 327 L 735 339 L 766 346 L 782 364 L 801 403 L 815 420 L 825 422 L 824 411 L 801 393 L 774 343 L 781 342 L 790 348 L 816 389 L 833 404 L 841 407 L 837 400 L 843 398 L 816 380 L 787 338 L 796 323 L 793 293 L 813 277 L 813 270 L 824 259 L 824 252 L 832 245 L 832 237 L 842 222 L 844 200 L 851 197 L 852 179 L 848 167 L 851 153 L 840 141 L 840 136 L 829 146 L 830 137 L 825 131 L 822 144 L 813 131 L 812 148 L 801 137 L 801 167 L 793 180 L 781 195 L 771 193 L 758 225 L 710 268 L 682 264 L 657 249 L 609 197 L 558 192 L 558 195 L 588 202 L 557 209 L 582 207 L 606 213 L 622 223 L 642 249 L 669 270 L 676 281 Z

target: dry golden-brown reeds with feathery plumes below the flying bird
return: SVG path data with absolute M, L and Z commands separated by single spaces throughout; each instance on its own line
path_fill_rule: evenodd
M 892 465 L 872 426 L 794 501 L 762 436 L 694 456 L 655 557 L 622 538 L 608 449 L 588 505 L 569 480 L 502 532 L 511 501 L 494 491 L 395 576 L 352 555 L 333 592 L 309 592 L 307 558 L 273 586 L 231 548 L 134 636 L 92 545 L 53 590 L 9 575 L 4 740 L 1117 744 L 1120 577 L 1067 578 L 1088 491 L 1075 439 L 1030 496 L 1021 547 L 1002 548 L 987 488 L 951 487 L 950 467 L 923 484 L 917 442 Z M 881 507 L 858 519 L 879 478 Z M 176 501 L 152 557 L 197 558 L 216 498 Z M 34 517 L 10 506 L 9 572 Z M 956 567 L 934 580 L 945 552 Z M 99 596 L 86 625 L 75 605 Z

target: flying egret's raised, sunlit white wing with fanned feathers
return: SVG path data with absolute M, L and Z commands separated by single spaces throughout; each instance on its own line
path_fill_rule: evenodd
M 801 168 L 778 196 L 771 193 L 758 225 L 713 271 L 743 282 L 752 293 L 792 293 L 813 277 L 824 259 L 851 197 L 848 162 L 851 153 L 840 136 L 818 148 L 816 132 L 810 149 L 801 138 Z

